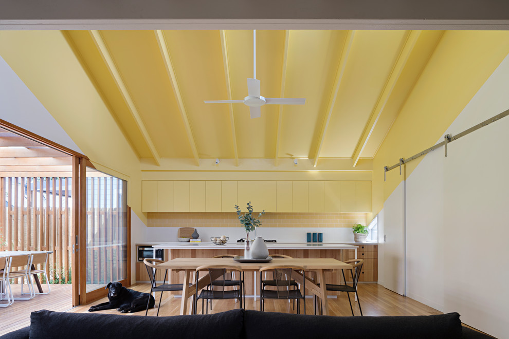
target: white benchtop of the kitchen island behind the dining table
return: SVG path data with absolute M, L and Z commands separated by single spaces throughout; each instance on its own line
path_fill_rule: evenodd
M 224 245 L 216 245 L 212 242 L 151 242 L 137 243 L 140 245 L 152 245 L 157 249 L 244 249 L 243 242 L 227 242 Z M 321 242 L 304 242 L 304 243 L 282 243 L 282 242 L 266 242 L 269 250 L 354 250 L 358 246 L 344 243 L 321 243 Z M 365 243 L 366 244 L 366 243 Z

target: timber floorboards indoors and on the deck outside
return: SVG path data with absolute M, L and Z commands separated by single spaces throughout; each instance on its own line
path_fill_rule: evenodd
M 137 291 L 150 291 L 150 284 L 136 284 L 131 286 Z M 19 295 L 20 289 L 14 286 L 14 296 Z M 362 313 L 364 315 L 429 315 L 442 314 L 431 307 L 416 302 L 413 299 L 401 296 L 391 292 L 377 284 L 359 284 L 359 299 L 361 302 Z M 156 298 L 156 306 L 159 295 Z M 169 293 L 163 293 L 161 309 L 159 316 L 178 315 L 180 310 L 180 298 L 174 297 Z M 90 305 L 95 305 L 107 301 L 107 298 L 97 300 L 89 305 L 71 308 L 71 285 L 52 285 L 51 293 L 37 295 L 32 300 L 16 300 L 13 305 L 0 308 L 0 335 L 15 329 L 23 328 L 30 324 L 30 312 L 37 310 L 52 310 L 59 312 L 87 312 Z M 346 294 L 342 294 L 337 299 L 329 298 L 331 315 L 350 316 L 350 306 Z M 238 308 L 239 303 L 234 300 L 214 300 L 212 313 L 222 312 L 233 308 Z M 358 304 L 355 303 L 355 315 L 360 315 Z M 246 308 L 259 310 L 260 300 L 256 302 L 253 298 L 246 298 Z M 295 313 L 292 305 L 287 300 L 274 300 L 265 302 L 265 311 L 276 311 Z M 149 315 L 156 315 L 157 308 L 149 310 Z M 116 310 L 99 311 L 98 313 L 122 314 Z M 202 313 L 201 302 L 198 304 L 198 313 Z M 210 310 L 209 310 L 210 313 Z M 301 313 L 303 305 L 301 304 Z M 306 298 L 306 314 L 313 314 L 313 300 Z M 126 313 L 125 315 L 144 315 L 144 312 Z

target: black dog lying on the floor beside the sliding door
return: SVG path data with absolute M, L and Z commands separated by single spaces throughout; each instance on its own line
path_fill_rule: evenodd
M 135 290 L 125 288 L 120 283 L 108 283 L 106 286 L 108 291 L 107 303 L 101 303 L 99 305 L 91 306 L 88 312 L 101 311 L 101 310 L 112 310 L 114 308 L 122 313 L 138 312 L 149 308 L 153 308 L 155 304 L 154 297 L 150 293 L 142 293 Z

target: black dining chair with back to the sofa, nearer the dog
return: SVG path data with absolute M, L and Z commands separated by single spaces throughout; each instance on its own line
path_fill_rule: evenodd
M 202 299 L 202 314 L 204 312 L 204 300 L 216 300 L 216 299 L 237 299 L 240 302 L 240 308 L 242 308 L 242 291 L 243 291 L 243 282 L 242 279 L 238 280 L 239 285 L 228 285 L 228 273 L 233 271 L 239 272 L 241 275 L 242 269 L 235 266 L 228 267 L 218 267 L 217 265 L 206 265 L 200 266 L 196 268 L 196 280 L 195 283 L 199 280 L 199 274 L 202 271 L 206 271 L 208 273 L 208 279 L 210 286 L 213 286 L 212 289 L 203 289 L 200 291 L 198 295 L 198 284 L 196 284 L 196 293 L 194 298 L 193 305 L 193 313 L 196 314 L 198 299 Z M 234 281 L 234 280 L 230 280 Z M 226 290 L 227 287 L 238 287 L 238 289 Z M 219 290 L 218 290 L 219 289 Z M 206 314 L 208 314 L 208 307 L 206 309 Z

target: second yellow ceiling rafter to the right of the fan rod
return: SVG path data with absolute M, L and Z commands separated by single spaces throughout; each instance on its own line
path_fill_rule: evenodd
M 338 68 L 336 69 L 336 78 L 334 80 L 334 89 L 332 90 L 331 97 L 329 99 L 329 103 L 327 104 L 327 110 L 325 111 L 325 116 L 322 122 L 322 128 L 320 130 L 320 135 L 318 137 L 318 145 L 316 146 L 314 164 L 316 167 L 318 163 L 318 158 L 320 156 L 320 150 L 323 145 L 323 140 L 325 139 L 325 132 L 327 131 L 327 127 L 329 126 L 329 121 L 331 120 L 332 111 L 334 109 L 334 104 L 336 103 L 336 98 L 338 96 L 339 87 L 341 85 L 341 79 L 343 78 L 344 69 L 347 65 L 348 55 L 352 48 L 352 43 L 354 41 L 355 31 L 348 31 L 347 36 L 344 39 L 343 50 L 341 51 L 341 58 L 339 59 Z

